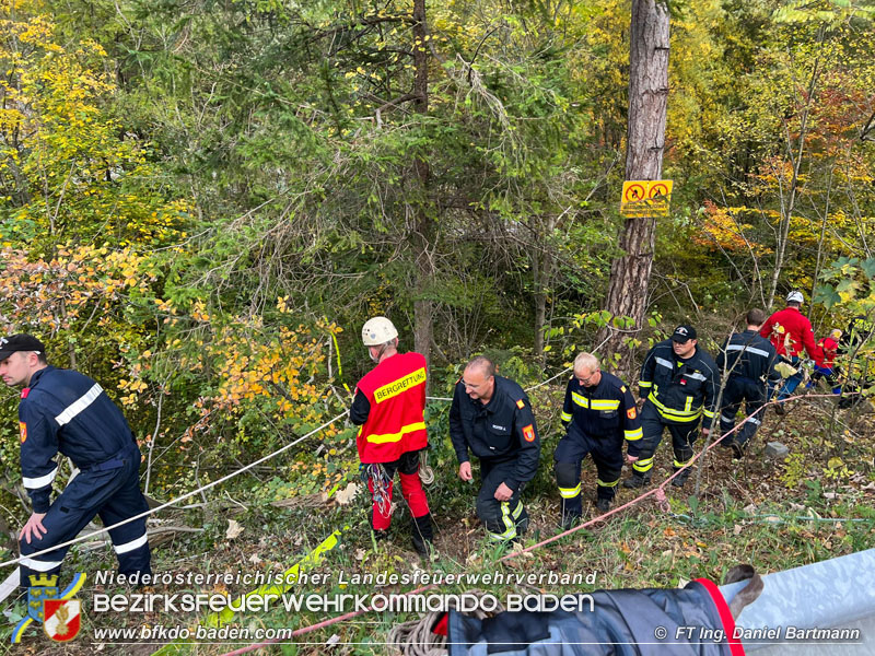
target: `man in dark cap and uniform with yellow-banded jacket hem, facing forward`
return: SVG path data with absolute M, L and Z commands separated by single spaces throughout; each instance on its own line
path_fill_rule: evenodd
M 641 408 L 644 436 L 630 442 L 627 461 L 632 476 L 623 488 L 641 488 L 650 481 L 653 455 L 660 446 L 663 429 L 672 434 L 675 471 L 672 484 L 682 488 L 690 473 L 687 465 L 693 456 L 692 445 L 702 420 L 702 434 L 711 431 L 719 384 L 718 365 L 698 345 L 692 326 L 678 326 L 670 339 L 654 345 L 641 367 L 640 394 L 646 394 Z

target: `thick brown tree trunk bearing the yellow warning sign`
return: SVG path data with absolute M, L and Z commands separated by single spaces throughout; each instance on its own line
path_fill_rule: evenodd
M 626 144 L 626 179 L 657 180 L 662 176 L 665 114 L 668 97 L 668 8 L 655 0 L 632 0 L 629 52 L 629 127 Z M 619 200 L 619 199 L 618 199 Z M 612 316 L 634 319 L 640 330 L 646 309 L 648 282 L 653 265 L 656 220 L 627 219 L 614 260 L 605 307 Z M 599 331 L 602 353 L 623 352 L 628 333 Z M 632 353 L 625 351 L 619 373 L 632 371 Z

